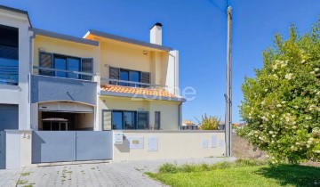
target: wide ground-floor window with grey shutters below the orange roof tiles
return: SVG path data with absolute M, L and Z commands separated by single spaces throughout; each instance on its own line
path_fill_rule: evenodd
M 148 112 L 114 110 L 112 129 L 148 129 Z

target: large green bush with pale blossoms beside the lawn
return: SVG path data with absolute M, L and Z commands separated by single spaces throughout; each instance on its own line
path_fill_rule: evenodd
M 319 17 L 320 18 L 320 17 Z M 265 150 L 273 163 L 320 160 L 320 21 L 302 36 L 290 28 L 284 41 L 263 52 L 263 67 L 245 77 L 238 134 Z

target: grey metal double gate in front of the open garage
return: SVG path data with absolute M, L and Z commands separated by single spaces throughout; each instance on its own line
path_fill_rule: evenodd
M 112 159 L 107 131 L 34 131 L 32 163 Z

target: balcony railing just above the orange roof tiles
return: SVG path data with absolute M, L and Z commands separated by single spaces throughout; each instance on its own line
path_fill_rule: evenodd
M 167 85 L 154 85 L 148 83 L 140 83 L 134 81 L 118 80 L 112 78 L 103 78 L 101 77 L 101 85 L 122 85 L 129 87 L 140 87 L 140 88 L 164 88 L 167 90 Z

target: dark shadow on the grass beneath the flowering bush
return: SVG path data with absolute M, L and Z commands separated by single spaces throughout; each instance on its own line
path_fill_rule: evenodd
M 299 165 L 263 167 L 255 172 L 266 178 L 276 179 L 281 185 L 320 186 L 320 168 Z

